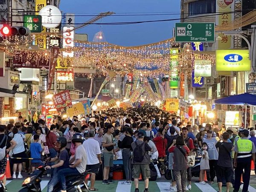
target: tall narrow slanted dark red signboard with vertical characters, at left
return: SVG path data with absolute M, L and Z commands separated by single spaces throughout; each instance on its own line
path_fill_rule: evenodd
M 51 89 L 59 51 L 60 51 L 59 47 L 51 47 L 49 74 L 48 74 L 48 81 L 47 81 L 47 91 Z

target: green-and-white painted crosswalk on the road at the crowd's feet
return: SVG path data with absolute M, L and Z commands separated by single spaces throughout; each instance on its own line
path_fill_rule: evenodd
M 22 187 L 23 180 L 7 180 L 6 187 L 10 192 L 18 192 Z M 47 192 L 47 184 L 49 180 L 42 180 L 41 181 L 41 189 L 42 192 Z M 89 184 L 90 185 L 90 184 Z M 241 189 L 242 189 L 241 185 Z M 95 188 L 99 189 L 99 192 L 134 192 L 134 184 L 132 185 L 122 185 L 122 181 L 115 181 L 115 183 L 110 185 L 103 185 L 102 181 L 95 182 Z M 168 181 L 163 182 L 156 182 L 150 181 L 149 182 L 149 191 L 150 192 L 169 192 L 170 183 Z M 139 182 L 139 189 L 140 192 L 144 190 L 144 182 Z M 240 189 L 240 192 L 241 192 Z M 223 190 L 226 190 L 226 187 L 223 187 Z M 232 191 L 233 189 L 230 189 Z M 251 184 L 248 189 L 250 192 L 256 192 L 256 184 Z M 217 192 L 218 185 L 214 183 L 212 185 L 200 185 L 199 183 L 192 183 L 192 190 L 189 192 Z

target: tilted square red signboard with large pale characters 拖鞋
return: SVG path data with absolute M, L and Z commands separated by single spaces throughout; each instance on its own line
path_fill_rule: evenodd
M 52 100 L 57 111 L 61 111 L 61 109 L 64 109 L 68 106 L 72 106 L 69 90 L 65 90 L 53 95 Z

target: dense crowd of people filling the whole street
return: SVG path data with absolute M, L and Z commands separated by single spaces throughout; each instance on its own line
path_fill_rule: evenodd
M 131 185 L 134 178 L 135 192 L 139 192 L 141 174 L 144 192 L 149 191 L 151 162 L 157 179 L 164 174 L 170 176 L 170 192 L 186 192 L 192 189 L 195 157 L 201 157 L 201 185 L 206 184 L 204 175 L 209 173 L 210 184 L 217 177 L 219 192 L 222 186 L 227 186 L 227 192 L 231 186 L 238 192 L 242 176 L 242 191 L 247 192 L 251 161 L 255 162 L 254 129 L 226 128 L 218 119 L 205 126 L 195 122 L 192 125 L 189 118 L 181 120 L 150 105 L 125 111 L 120 108 L 93 111 L 71 119 L 56 116 L 50 127 L 43 119 L 28 122 L 20 116 L 18 122 L 10 119 L 8 125 L 0 125 L 0 149 L 12 157 L 13 179 L 23 178 L 23 171 L 34 172 L 46 155 L 47 176 L 52 177 L 48 192 L 58 182 L 64 192 L 65 177 L 86 169 L 90 170 L 90 190 L 97 191 L 94 183 L 99 167 L 103 163 L 102 184 L 113 183 L 109 175 L 117 159 L 123 161 L 126 180 L 122 184 Z M 6 154 L 2 159 L 0 156 L 0 174 L 6 171 Z M 32 160 L 27 160 L 28 157 Z

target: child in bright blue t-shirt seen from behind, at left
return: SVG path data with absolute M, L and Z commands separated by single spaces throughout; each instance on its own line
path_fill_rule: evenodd
M 34 158 L 33 160 L 31 160 L 31 166 L 32 166 L 32 172 L 35 171 L 35 167 L 38 167 L 41 165 L 41 152 L 42 147 L 41 145 L 38 143 L 39 141 L 39 135 L 35 134 L 34 136 L 34 143 L 30 144 L 30 152 L 31 152 L 31 158 Z

